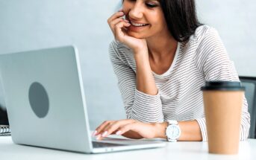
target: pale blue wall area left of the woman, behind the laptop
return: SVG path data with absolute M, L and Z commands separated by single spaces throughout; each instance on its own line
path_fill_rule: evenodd
M 125 118 L 108 57 L 113 36 L 107 18 L 118 10 L 118 2 L 0 0 L 1 54 L 70 44 L 78 47 L 92 128 L 105 119 Z

